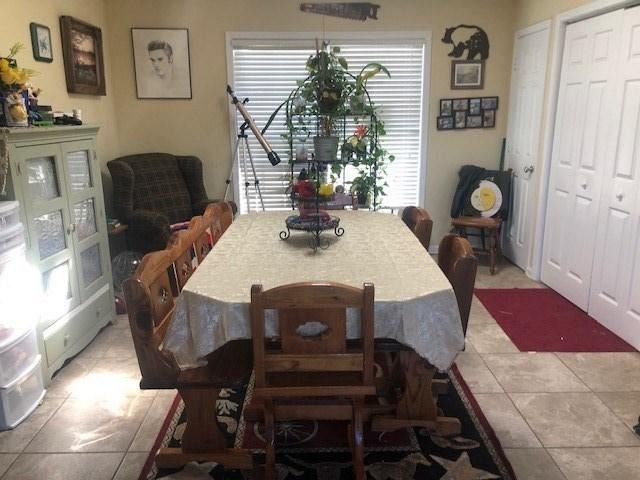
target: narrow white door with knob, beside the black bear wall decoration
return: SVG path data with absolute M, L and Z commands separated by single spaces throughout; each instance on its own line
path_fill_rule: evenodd
M 516 32 L 506 148 L 506 165 L 513 169 L 513 203 L 503 250 L 523 270 L 530 267 L 535 223 L 534 182 L 548 45 L 549 22 Z

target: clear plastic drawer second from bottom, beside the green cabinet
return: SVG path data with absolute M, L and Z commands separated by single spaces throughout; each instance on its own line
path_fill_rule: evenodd
M 3 338 L 3 332 L 8 333 L 6 338 Z M 0 325 L 0 388 L 22 377 L 37 356 L 35 328 L 7 328 L 6 325 Z

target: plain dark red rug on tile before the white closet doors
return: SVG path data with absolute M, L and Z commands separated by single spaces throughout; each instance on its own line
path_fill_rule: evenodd
M 551 289 L 478 288 L 475 295 L 522 352 L 636 351 Z

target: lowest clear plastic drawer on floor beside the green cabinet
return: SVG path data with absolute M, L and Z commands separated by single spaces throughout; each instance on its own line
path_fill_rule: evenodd
M 27 372 L 5 388 L 0 388 L 0 430 L 16 427 L 29 416 L 44 397 L 40 355 Z

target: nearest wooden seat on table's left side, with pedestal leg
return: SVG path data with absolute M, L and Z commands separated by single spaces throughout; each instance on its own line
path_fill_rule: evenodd
M 179 468 L 191 461 L 215 461 L 228 468 L 251 469 L 251 453 L 227 448 L 216 416 L 212 415 L 222 388 L 238 388 L 249 381 L 251 342 L 228 342 L 207 356 L 205 366 L 182 371 L 174 356 L 160 349 L 176 304 L 171 277 L 179 251 L 176 247 L 145 255 L 133 277 L 123 283 L 142 376 L 140 389 L 178 389 L 187 412 L 182 446 L 161 448 L 156 463 L 161 468 Z

